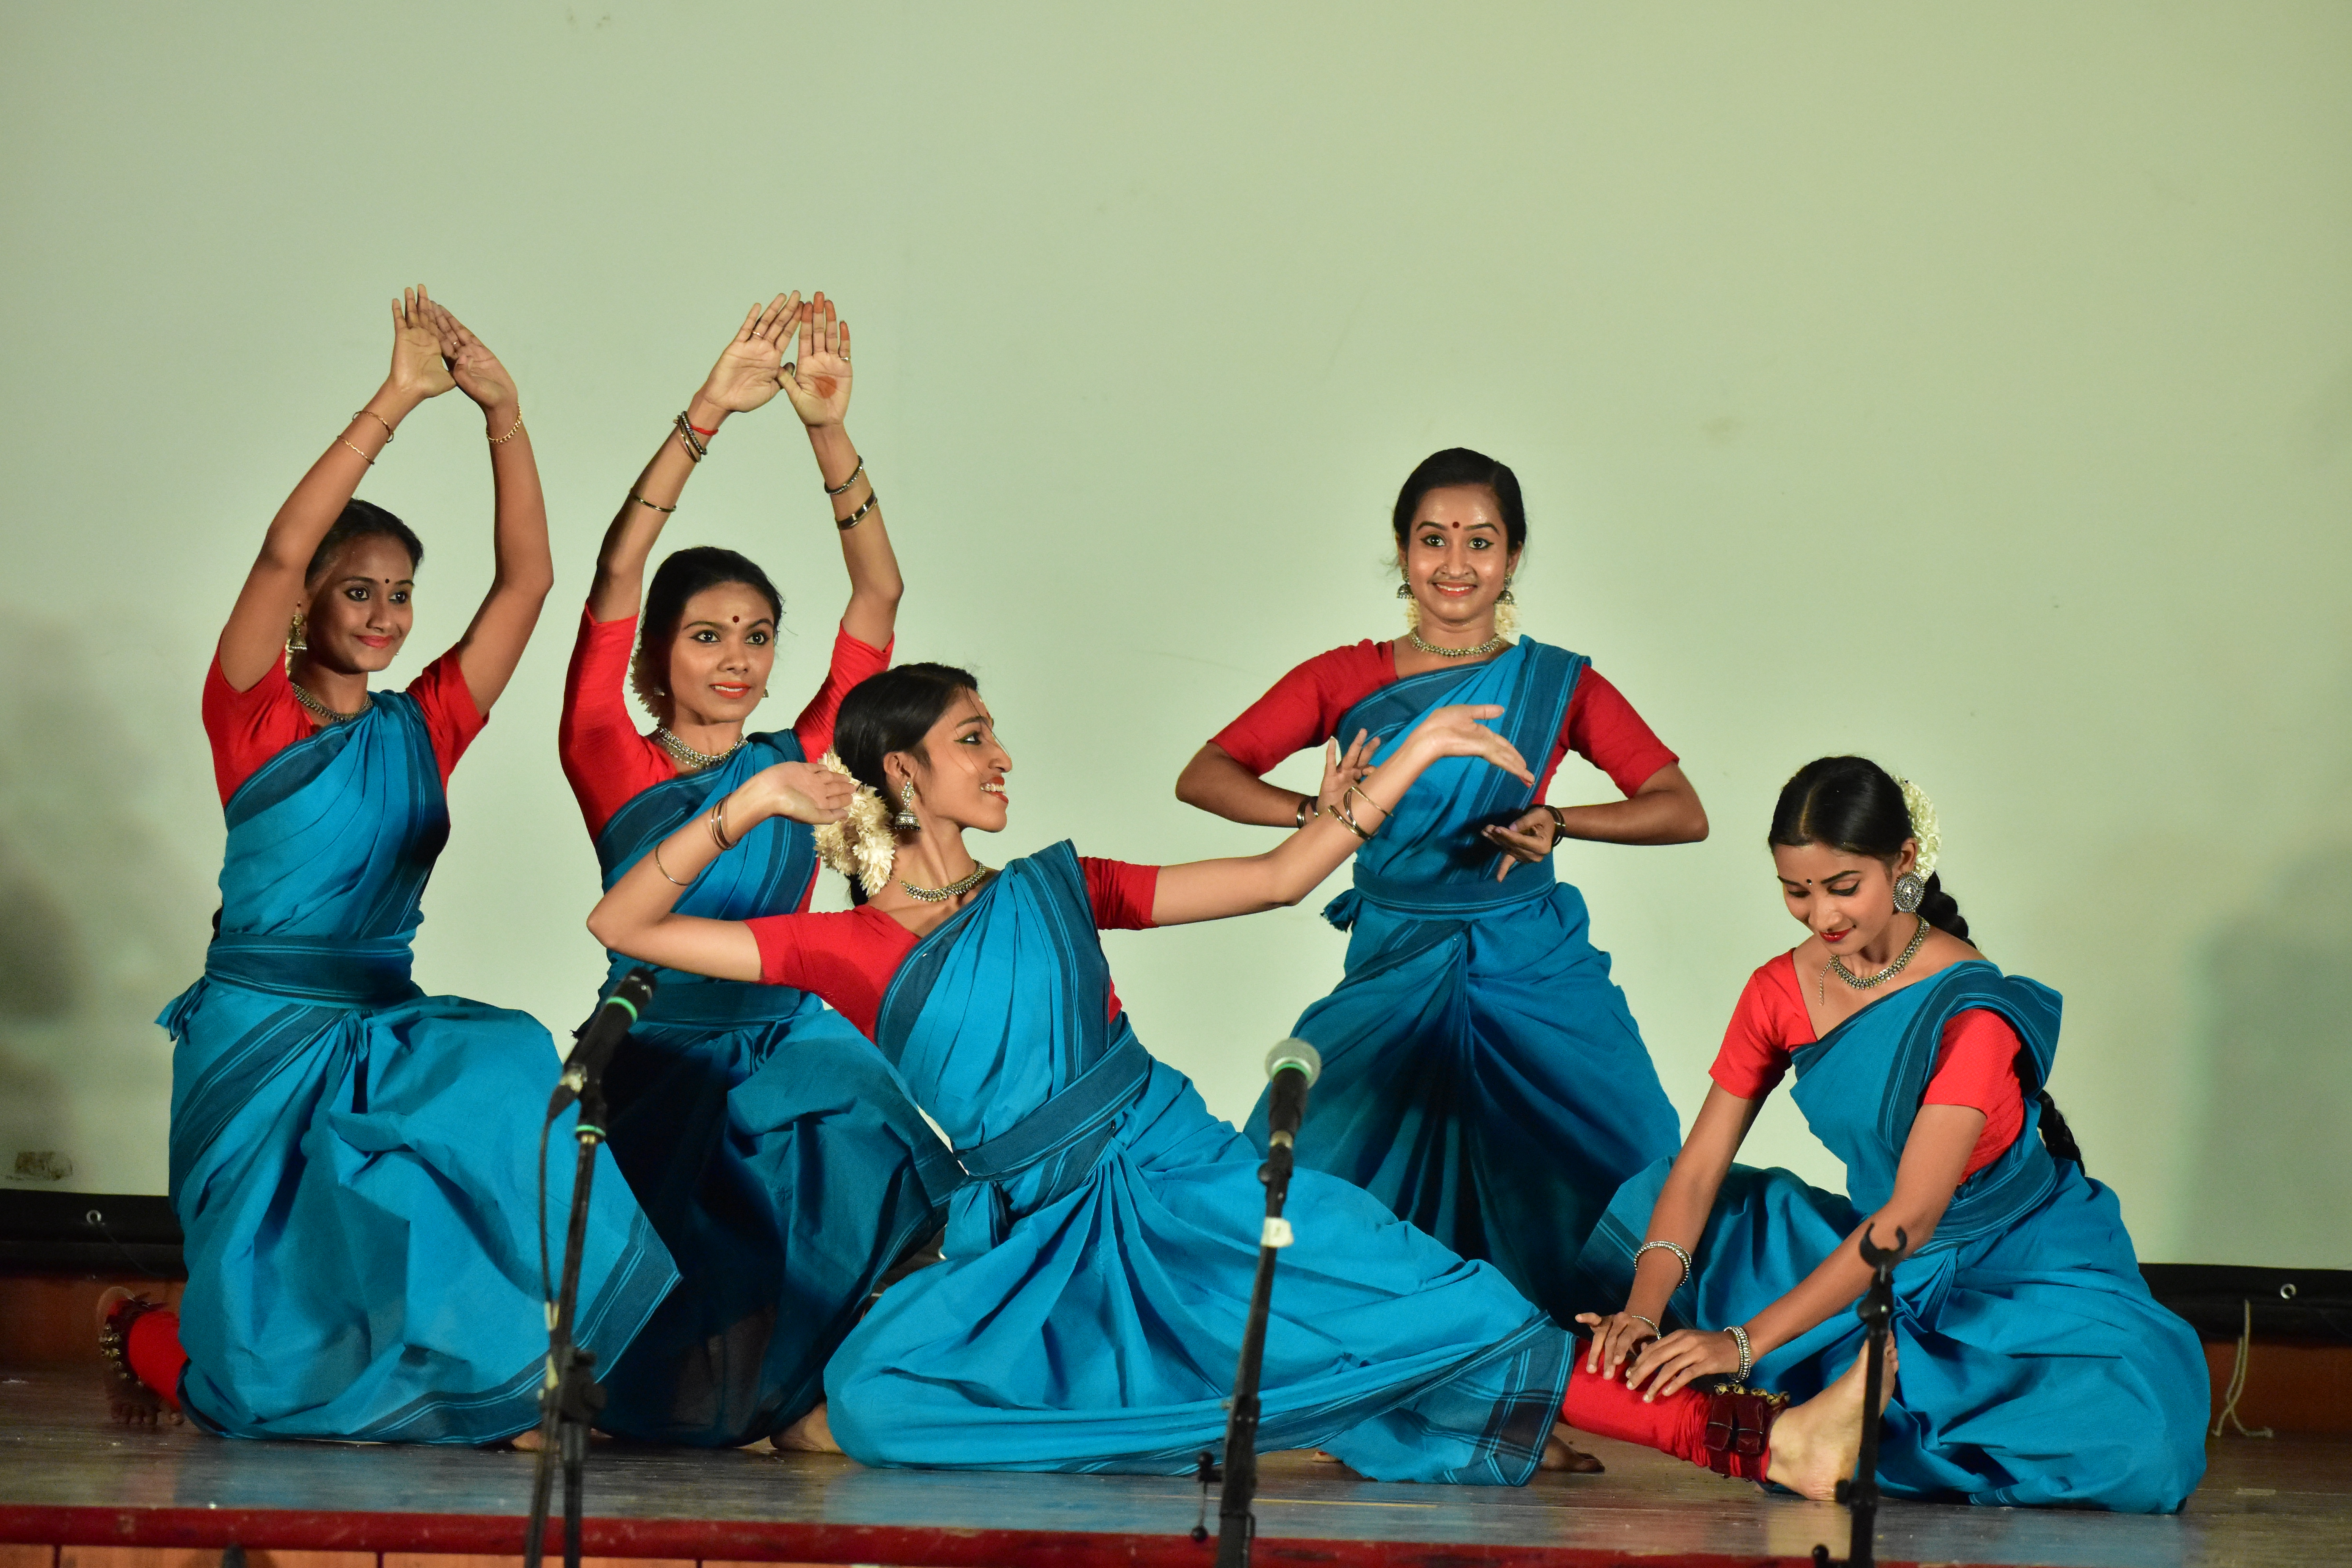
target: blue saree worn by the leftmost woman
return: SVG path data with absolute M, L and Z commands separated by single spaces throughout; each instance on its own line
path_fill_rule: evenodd
M 529 1016 L 409 983 L 449 837 L 416 701 L 374 693 L 226 813 L 205 978 L 158 1020 L 188 1237 L 181 1406 L 230 1436 L 510 1436 L 536 1420 L 548 1354 L 534 1159 L 560 1063 Z M 548 1159 L 555 1258 L 572 1126 Z M 597 1159 L 576 1338 L 609 1363 L 675 1274 Z

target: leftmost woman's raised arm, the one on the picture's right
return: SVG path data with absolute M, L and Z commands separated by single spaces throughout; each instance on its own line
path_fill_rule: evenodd
M 539 625 L 539 607 L 555 588 L 548 498 L 539 489 L 539 458 L 532 454 L 532 433 L 522 428 L 515 378 L 447 308 L 433 306 L 433 327 L 440 331 L 452 378 L 482 409 L 482 435 L 489 437 L 489 480 L 496 496 L 489 592 L 482 595 L 482 609 L 473 611 L 473 625 L 456 644 L 456 668 L 466 677 L 466 691 L 477 710 L 489 712 L 522 663 L 522 649 Z

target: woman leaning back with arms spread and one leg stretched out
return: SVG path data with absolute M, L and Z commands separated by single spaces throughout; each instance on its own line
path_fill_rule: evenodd
M 1343 809 L 1261 856 L 1190 865 L 1089 860 L 1063 842 L 993 872 L 964 832 L 1007 823 L 1011 757 L 995 717 L 964 670 L 901 665 L 842 703 L 847 778 L 809 790 L 767 769 L 717 804 L 720 835 L 691 823 L 661 844 L 666 875 L 640 860 L 604 893 L 590 929 L 616 952 L 826 997 L 898 1065 L 969 1173 L 946 1262 L 858 1324 L 800 1441 L 837 1439 L 868 1465 L 1145 1474 L 1188 1472 L 1218 1446 L 1258 1255 L 1258 1154 L 1136 1041 L 1096 931 L 1291 905 L 1446 757 L 1531 783 L 1494 717 L 1501 708 L 1430 712 L 1359 785 L 1371 823 Z M 1327 769 L 1338 766 L 1329 748 Z M 818 837 L 858 877 L 863 907 L 675 912 L 680 882 L 781 811 L 847 818 Z M 1851 1387 L 1788 1413 L 1696 1389 L 1644 1403 L 1581 1371 L 1566 1331 L 1491 1265 L 1456 1258 L 1359 1187 L 1303 1168 L 1289 1213 L 1263 1448 L 1324 1448 L 1376 1479 L 1522 1483 L 1566 1396 L 1576 1425 L 1722 1469 L 1771 1465 L 1816 1495 L 1842 1455 L 1851 1465 Z

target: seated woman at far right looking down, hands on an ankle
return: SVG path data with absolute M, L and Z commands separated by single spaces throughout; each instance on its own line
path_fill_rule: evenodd
M 1585 1319 L 1588 1361 L 1630 1359 L 1661 1394 L 1731 1373 L 1804 1396 L 1860 1345 L 1858 1237 L 1900 1234 L 1879 1486 L 2178 1509 L 2204 1474 L 2206 1363 L 2044 1091 L 2058 994 L 1969 945 L 1933 809 L 1877 764 L 1804 766 L 1771 846 L 1811 936 L 1750 980 L 1682 1154 L 1595 1227 L 1581 1267 L 1625 1309 Z M 1844 1197 L 1731 1164 L 1785 1067 Z

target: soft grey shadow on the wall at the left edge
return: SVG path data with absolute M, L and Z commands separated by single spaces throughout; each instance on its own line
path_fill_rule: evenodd
M 0 1190 L 162 1192 L 172 1044 L 207 891 L 158 773 L 64 623 L 0 625 Z M 151 703 L 148 710 L 155 710 Z

